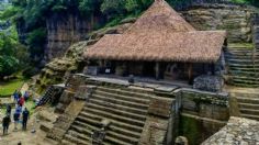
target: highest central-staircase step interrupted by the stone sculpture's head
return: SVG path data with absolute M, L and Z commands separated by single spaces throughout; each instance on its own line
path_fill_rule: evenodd
M 95 120 L 92 120 L 95 119 Z M 80 114 L 80 116 L 77 118 L 77 120 L 79 121 L 83 121 L 87 122 L 89 124 L 94 124 L 94 125 L 101 125 L 100 122 L 102 121 L 103 116 L 100 116 L 98 114 L 90 114 L 90 113 L 82 113 Z M 135 132 L 135 133 L 142 133 L 143 127 L 142 126 L 137 126 L 135 124 L 128 124 L 125 122 L 120 122 L 113 119 L 109 119 L 112 122 L 112 126 L 116 126 L 116 127 L 121 127 L 121 129 L 125 129 L 127 131 L 131 132 Z

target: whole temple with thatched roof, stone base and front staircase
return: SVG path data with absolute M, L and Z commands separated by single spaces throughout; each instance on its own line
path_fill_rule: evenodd
M 156 0 L 126 32 L 105 35 L 85 52 L 89 65 L 63 87 L 60 116 L 45 140 L 64 145 L 203 143 L 230 115 L 218 79 L 225 38 L 224 31 L 196 31 L 166 1 Z

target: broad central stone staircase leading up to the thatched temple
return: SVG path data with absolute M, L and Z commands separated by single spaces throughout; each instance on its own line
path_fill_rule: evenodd
M 101 129 L 101 122 L 105 119 L 111 125 L 105 132 L 104 145 L 138 144 L 150 98 L 157 96 L 148 90 L 98 87 L 64 135 L 61 143 L 90 145 L 91 135 Z

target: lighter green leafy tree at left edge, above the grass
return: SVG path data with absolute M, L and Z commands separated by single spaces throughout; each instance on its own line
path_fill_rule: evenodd
M 29 62 L 27 49 L 19 43 L 15 24 L 11 23 L 18 9 L 4 4 L 0 10 L 0 80 L 20 69 Z

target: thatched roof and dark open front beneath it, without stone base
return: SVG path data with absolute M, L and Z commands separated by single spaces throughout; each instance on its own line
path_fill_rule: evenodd
M 196 31 L 165 0 L 155 0 L 126 32 L 104 35 L 85 58 L 100 60 L 103 74 L 192 80 L 215 72 L 225 40 L 225 31 Z

